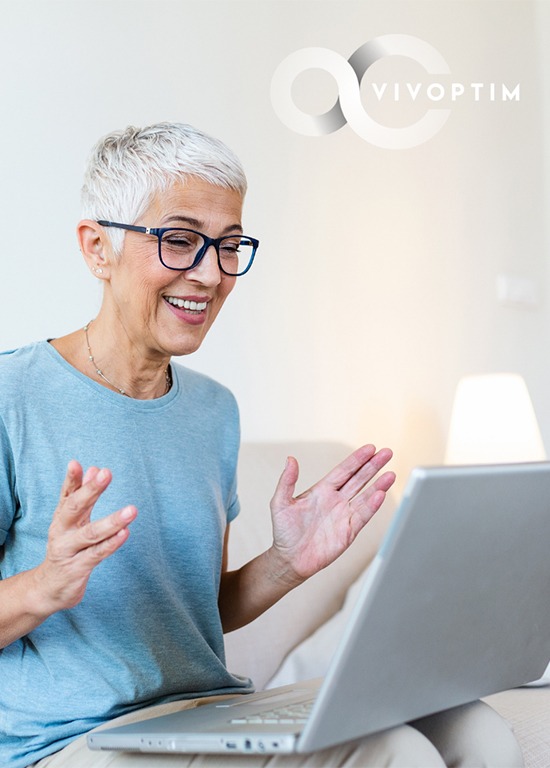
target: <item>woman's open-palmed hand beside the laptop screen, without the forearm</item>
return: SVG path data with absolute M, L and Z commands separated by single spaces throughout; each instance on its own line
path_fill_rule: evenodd
M 389 448 L 364 445 L 296 497 L 298 462 L 287 459 L 271 500 L 272 550 L 285 563 L 281 577 L 300 583 L 350 546 L 393 485 L 393 472 L 368 485 L 391 457 Z

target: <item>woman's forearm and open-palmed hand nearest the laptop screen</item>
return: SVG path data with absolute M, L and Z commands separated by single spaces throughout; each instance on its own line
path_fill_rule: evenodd
M 391 457 L 387 448 L 376 452 L 365 445 L 296 497 L 298 463 L 287 460 L 271 500 L 271 547 L 239 570 L 227 571 L 226 534 L 219 596 L 224 632 L 253 621 L 350 546 L 393 485 L 393 472 L 370 482 Z

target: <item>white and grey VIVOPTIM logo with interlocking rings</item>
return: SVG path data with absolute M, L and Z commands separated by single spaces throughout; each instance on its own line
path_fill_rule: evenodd
M 403 56 L 417 62 L 429 75 L 448 79 L 450 68 L 443 56 L 432 45 L 413 35 L 381 35 L 360 46 L 348 60 L 329 48 L 302 48 L 287 56 L 277 67 L 271 82 L 271 102 L 280 120 L 291 130 L 305 136 L 326 136 L 342 128 L 346 123 L 365 141 L 384 149 L 409 149 L 431 139 L 447 122 L 449 107 L 429 106 L 425 113 L 412 124 L 390 127 L 378 122 L 363 106 L 361 81 L 367 70 L 388 56 Z M 336 103 L 327 112 L 311 115 L 296 106 L 292 98 L 292 85 L 298 75 L 311 69 L 325 70 L 333 76 L 338 86 Z M 488 98 L 496 99 L 495 83 L 488 84 Z M 466 92 L 475 101 L 484 93 L 484 83 L 470 83 L 469 89 L 462 83 L 452 83 L 450 88 L 440 82 L 430 83 L 423 91 L 429 104 L 441 102 L 447 96 L 452 102 Z M 380 102 L 393 94 L 393 100 L 403 96 L 415 101 L 422 91 L 421 83 L 406 83 L 400 88 L 395 83 L 372 83 L 373 95 Z M 510 91 L 501 88 L 502 100 L 519 101 L 519 85 Z

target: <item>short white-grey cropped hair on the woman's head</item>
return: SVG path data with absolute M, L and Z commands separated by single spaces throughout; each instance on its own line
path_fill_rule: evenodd
M 82 187 L 82 216 L 134 224 L 153 197 L 195 176 L 244 197 L 246 176 L 222 141 L 184 123 L 128 126 L 100 139 L 92 149 Z M 110 230 L 120 255 L 123 230 Z

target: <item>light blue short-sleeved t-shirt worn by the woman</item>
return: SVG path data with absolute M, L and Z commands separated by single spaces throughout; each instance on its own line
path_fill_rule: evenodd
M 82 602 L 0 650 L 0 765 L 20 768 L 136 708 L 247 692 L 225 668 L 223 536 L 238 513 L 231 393 L 172 364 L 155 400 L 112 392 L 46 341 L 0 355 L 0 578 L 44 559 L 67 463 L 108 467 L 92 519 L 138 509 Z

